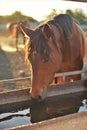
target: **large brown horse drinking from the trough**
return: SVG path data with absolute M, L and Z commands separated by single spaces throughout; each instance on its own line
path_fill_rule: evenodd
M 29 38 L 26 59 L 32 66 L 31 96 L 44 99 L 58 72 L 81 70 L 85 56 L 85 38 L 79 24 L 71 16 L 60 14 L 35 30 L 20 28 Z M 81 75 L 67 76 L 66 81 L 80 80 Z

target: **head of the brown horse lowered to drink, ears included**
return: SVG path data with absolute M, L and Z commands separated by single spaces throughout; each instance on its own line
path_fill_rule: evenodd
M 20 28 L 28 37 L 25 46 L 26 58 L 32 67 L 31 96 L 36 99 L 44 99 L 47 87 L 61 65 L 61 56 L 53 43 L 50 25 L 44 24 L 31 30 L 21 24 Z

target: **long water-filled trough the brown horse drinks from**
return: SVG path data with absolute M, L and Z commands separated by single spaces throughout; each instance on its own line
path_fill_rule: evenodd
M 61 85 L 50 85 L 47 98 L 40 105 L 33 104 L 29 88 L 26 88 L 0 93 L 0 113 L 10 113 L 15 110 L 17 116 L 22 110 L 22 115 L 23 112 L 29 111 L 26 113 L 31 120 L 29 123 L 7 129 L 86 130 L 87 112 L 78 112 L 84 99 L 87 99 L 87 79 Z M 20 108 L 22 109 L 20 110 Z M 19 113 L 18 110 L 20 110 Z M 43 115 L 43 113 L 45 114 Z M 41 115 L 40 119 L 38 119 L 38 115 Z M 43 118 L 41 119 L 41 117 Z

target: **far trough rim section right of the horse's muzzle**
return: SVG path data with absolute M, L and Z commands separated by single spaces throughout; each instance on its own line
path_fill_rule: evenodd
M 68 82 L 61 85 L 55 85 L 50 87 L 47 93 L 47 97 L 83 92 L 86 90 L 87 90 L 87 80 L 79 80 L 75 82 Z

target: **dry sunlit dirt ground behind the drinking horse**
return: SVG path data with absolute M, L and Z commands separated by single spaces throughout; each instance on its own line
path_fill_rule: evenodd
M 15 39 L 0 36 L 0 80 L 23 78 L 30 75 L 30 67 L 24 61 L 24 46 L 15 48 Z M 87 55 L 84 68 L 87 68 Z M 0 83 L 0 92 L 30 87 L 30 81 Z

